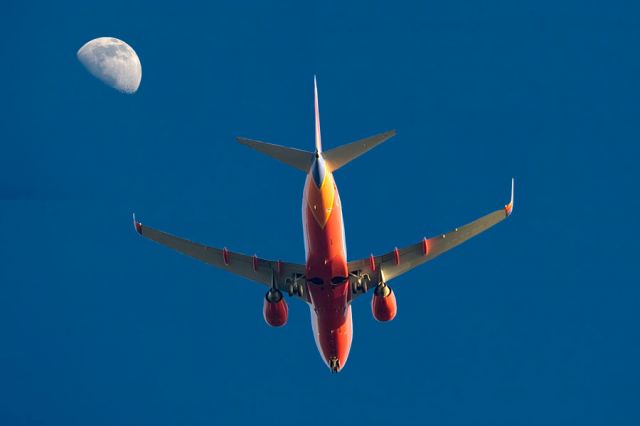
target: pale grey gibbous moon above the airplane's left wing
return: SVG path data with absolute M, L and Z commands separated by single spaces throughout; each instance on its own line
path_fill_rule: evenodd
M 78 50 L 78 60 L 94 77 L 108 86 L 133 94 L 142 80 L 142 65 L 136 52 L 113 37 L 93 39 Z

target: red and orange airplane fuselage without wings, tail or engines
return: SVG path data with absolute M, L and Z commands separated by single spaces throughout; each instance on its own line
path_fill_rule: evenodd
M 342 205 L 321 154 L 307 174 L 302 223 L 313 333 L 324 362 L 337 372 L 349 356 L 353 325 Z

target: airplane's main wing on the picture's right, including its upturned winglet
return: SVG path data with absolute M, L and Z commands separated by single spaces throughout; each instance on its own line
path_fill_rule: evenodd
M 366 293 L 368 289 L 375 287 L 380 282 L 388 282 L 416 266 L 435 259 L 442 253 L 502 222 L 513 211 L 513 187 L 514 180 L 511 179 L 511 201 L 503 209 L 489 213 L 446 234 L 424 238 L 419 243 L 401 249 L 396 248 L 382 256 L 371 255 L 368 259 L 349 262 L 348 268 L 355 293 L 352 298 Z

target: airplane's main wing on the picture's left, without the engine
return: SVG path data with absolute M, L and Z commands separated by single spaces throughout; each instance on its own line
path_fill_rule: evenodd
M 133 225 L 138 234 L 158 244 L 251 281 L 269 287 L 275 286 L 282 291 L 289 292 L 290 295 L 297 295 L 305 302 L 308 301 L 304 291 L 304 265 L 262 259 L 255 255 L 247 256 L 246 254 L 227 250 L 226 247 L 219 249 L 205 246 L 143 225 L 136 220 L 135 214 L 133 216 Z

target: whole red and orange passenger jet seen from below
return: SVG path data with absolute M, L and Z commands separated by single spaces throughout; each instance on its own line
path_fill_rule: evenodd
M 504 206 L 467 225 L 423 238 L 407 247 L 368 258 L 348 261 L 342 202 L 333 173 L 395 135 L 391 130 L 323 151 L 320 136 L 318 86 L 314 76 L 315 151 L 288 148 L 257 140 L 237 138 L 243 145 L 306 173 L 302 199 L 305 264 L 267 260 L 192 242 L 143 225 L 133 215 L 135 230 L 156 243 L 184 255 L 266 285 L 263 316 L 272 327 L 285 325 L 288 305 L 283 293 L 307 303 L 316 346 L 331 372 L 341 371 L 351 349 L 353 322 L 351 304 L 373 290 L 371 311 L 380 322 L 394 319 L 396 298 L 389 281 L 464 241 L 486 231 L 511 215 L 511 200 Z

